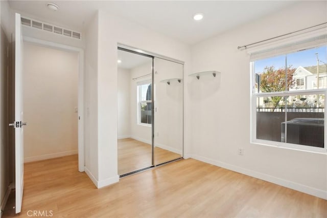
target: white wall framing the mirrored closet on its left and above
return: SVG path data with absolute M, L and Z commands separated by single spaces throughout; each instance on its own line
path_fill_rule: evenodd
M 98 36 L 98 157 L 99 183 L 108 185 L 119 180 L 117 172 L 117 46 L 143 49 L 185 61 L 189 72 L 190 50 L 174 39 L 99 11 Z M 185 145 L 187 146 L 187 145 Z

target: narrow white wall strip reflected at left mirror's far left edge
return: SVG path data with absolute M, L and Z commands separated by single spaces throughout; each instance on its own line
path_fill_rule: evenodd
M 118 69 L 118 139 L 129 138 L 131 135 L 130 118 L 130 72 Z

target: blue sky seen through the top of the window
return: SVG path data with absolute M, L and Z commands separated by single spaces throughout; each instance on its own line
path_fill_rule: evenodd
M 293 68 L 298 68 L 299 66 L 308 67 L 317 65 L 318 53 L 319 60 L 327 63 L 327 46 L 308 49 L 300 52 L 290 53 L 287 55 L 276 56 L 272 58 L 256 60 L 255 61 L 255 73 L 262 73 L 266 66 L 275 66 L 275 69 L 285 68 L 285 57 L 287 56 L 287 65 L 292 65 Z M 323 64 L 319 62 L 319 64 Z

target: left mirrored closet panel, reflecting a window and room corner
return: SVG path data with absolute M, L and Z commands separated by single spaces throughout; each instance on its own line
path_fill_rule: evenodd
M 152 57 L 118 50 L 118 174 L 152 166 Z

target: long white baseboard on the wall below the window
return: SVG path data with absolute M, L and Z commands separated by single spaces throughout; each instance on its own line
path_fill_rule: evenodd
M 242 173 L 242 174 L 250 176 L 250 177 L 261 179 L 261 180 L 264 180 L 264 181 L 267 181 L 267 182 L 271 182 L 271 183 L 274 183 L 274 184 L 277 184 L 277 185 L 281 185 L 281 186 L 284 186 L 284 187 L 287 187 L 287 188 L 290 188 L 290 189 L 294 189 L 294 190 L 297 190 L 297 191 L 300 191 L 300 192 L 303 192 L 303 193 L 307 193 L 307 194 L 313 195 L 315 197 L 327 200 L 327 191 L 325 191 L 325 190 L 316 189 L 316 188 L 313 188 L 313 187 L 310 187 L 310 186 L 306 186 L 306 185 L 302 185 L 302 184 L 295 183 L 295 182 L 292 182 L 292 181 L 288 181 L 288 180 L 284 180 L 284 179 L 281 179 L 281 178 L 273 177 L 273 176 L 267 175 L 265 173 L 256 172 L 256 171 L 253 171 L 253 170 L 245 169 L 245 168 L 242 168 L 242 167 L 239 167 L 239 166 L 227 164 L 227 163 L 224 163 L 224 162 L 220 162 L 220 161 L 216 161 L 216 160 L 213 160 L 213 159 L 201 157 L 201 156 L 198 156 L 198 155 L 189 155 L 189 157 L 191 157 L 193 159 L 196 159 L 196 160 L 199 160 L 199 161 L 202 161 L 202 162 L 205 162 L 205 163 L 213 164 L 213 165 L 225 168 L 225 169 L 229 169 L 229 170 L 232 170 L 232 171 Z

